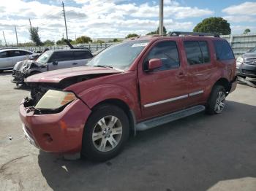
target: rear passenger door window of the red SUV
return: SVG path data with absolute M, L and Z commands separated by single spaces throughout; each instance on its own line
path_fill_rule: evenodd
M 187 62 L 190 65 L 208 63 L 210 54 L 206 41 L 185 41 L 185 51 L 187 54 Z

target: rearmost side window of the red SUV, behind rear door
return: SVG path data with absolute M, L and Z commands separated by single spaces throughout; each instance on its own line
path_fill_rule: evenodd
M 214 41 L 217 61 L 234 59 L 233 51 L 227 41 Z

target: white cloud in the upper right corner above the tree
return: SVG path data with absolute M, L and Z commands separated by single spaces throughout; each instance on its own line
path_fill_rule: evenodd
M 232 5 L 222 10 L 228 15 L 256 15 L 256 2 L 246 1 L 242 4 Z

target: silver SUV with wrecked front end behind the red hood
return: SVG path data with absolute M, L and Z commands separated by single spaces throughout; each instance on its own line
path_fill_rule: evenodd
M 37 58 L 37 61 L 21 61 L 12 70 L 12 82 L 23 84 L 24 79 L 34 74 L 56 69 L 86 66 L 93 55 L 90 50 L 48 50 Z

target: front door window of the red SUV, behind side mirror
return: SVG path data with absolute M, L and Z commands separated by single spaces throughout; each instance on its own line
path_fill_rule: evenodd
M 154 71 L 177 69 L 180 66 L 176 42 L 159 42 L 156 44 L 144 60 L 144 70 L 147 70 L 148 61 L 153 58 L 159 58 L 162 61 L 162 67 Z

